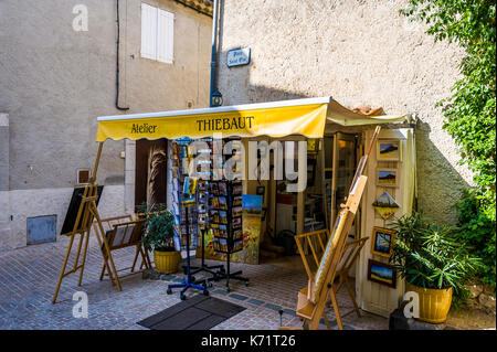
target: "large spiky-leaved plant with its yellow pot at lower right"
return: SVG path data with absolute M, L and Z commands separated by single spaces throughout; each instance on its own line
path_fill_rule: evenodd
M 393 223 L 396 232 L 393 262 L 406 280 L 406 291 L 419 295 L 419 320 L 441 323 L 454 297 L 467 297 L 465 284 L 479 268 L 479 259 L 472 257 L 457 241 L 454 228 L 425 222 L 420 214 L 404 215 Z

